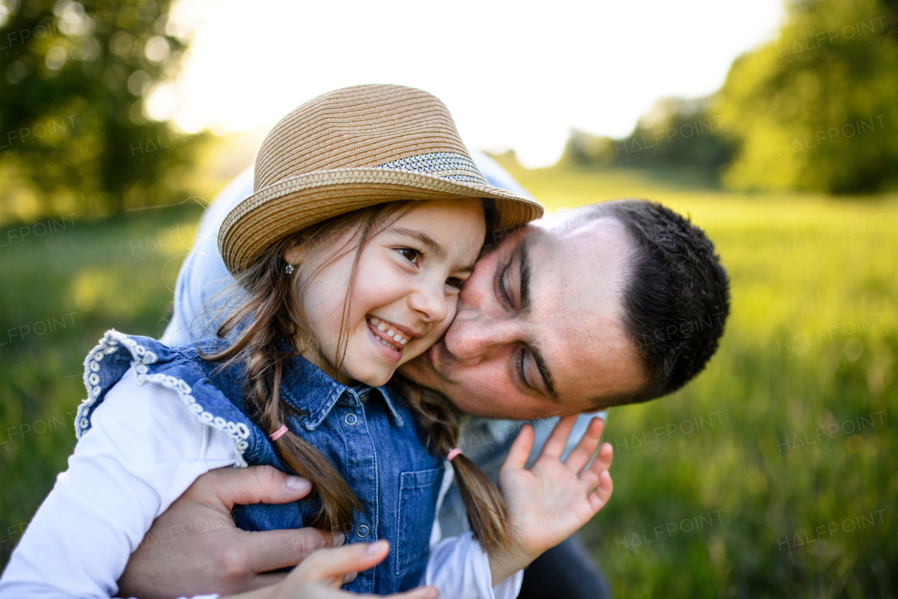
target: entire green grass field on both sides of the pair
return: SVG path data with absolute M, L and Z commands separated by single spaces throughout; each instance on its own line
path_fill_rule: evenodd
M 688 212 L 732 278 L 707 371 L 672 397 L 612 409 L 614 496 L 585 536 L 615 595 L 898 595 L 898 199 L 514 174 L 549 210 L 641 197 Z M 84 354 L 110 326 L 161 333 L 198 216 L 74 217 L 11 242 L 0 231 L 4 560 L 75 445 Z

